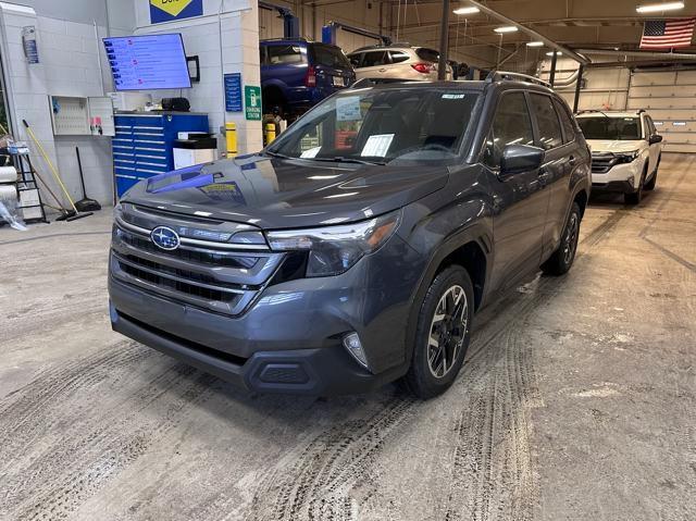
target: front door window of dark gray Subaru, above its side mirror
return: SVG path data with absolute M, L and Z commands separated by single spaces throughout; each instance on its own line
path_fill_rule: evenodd
M 508 145 L 534 145 L 532 119 L 523 92 L 508 92 L 500 98 L 486 141 L 484 162 L 498 169 Z

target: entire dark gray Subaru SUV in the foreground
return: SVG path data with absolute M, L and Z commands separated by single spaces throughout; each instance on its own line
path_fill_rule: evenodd
M 457 377 L 474 313 L 566 273 L 591 190 L 568 106 L 517 75 L 346 89 L 258 154 L 115 209 L 115 331 L 258 392 Z

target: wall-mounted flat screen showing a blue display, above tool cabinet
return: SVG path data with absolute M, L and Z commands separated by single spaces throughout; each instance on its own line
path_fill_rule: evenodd
M 104 38 L 116 90 L 190 88 L 181 34 Z

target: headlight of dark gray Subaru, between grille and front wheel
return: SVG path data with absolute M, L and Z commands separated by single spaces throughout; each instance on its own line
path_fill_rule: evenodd
M 273 250 L 309 250 L 307 276 L 338 275 L 385 244 L 399 218 L 400 212 L 394 212 L 353 224 L 269 232 L 266 236 Z

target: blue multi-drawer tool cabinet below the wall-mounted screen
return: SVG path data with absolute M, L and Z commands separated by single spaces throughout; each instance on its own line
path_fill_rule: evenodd
M 127 112 L 114 115 L 112 140 L 116 195 L 140 179 L 174 170 L 179 132 L 209 132 L 208 116 L 191 112 Z

